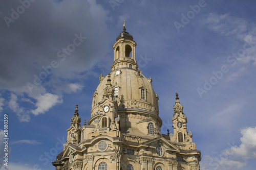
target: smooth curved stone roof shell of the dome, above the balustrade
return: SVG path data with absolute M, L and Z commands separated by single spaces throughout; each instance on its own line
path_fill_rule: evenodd
M 116 71 L 119 70 L 121 73 L 120 75 L 116 74 Z M 137 71 L 132 68 L 118 68 L 110 72 L 110 79 L 111 84 L 113 87 L 118 87 L 119 89 L 119 96 L 116 99 L 120 104 L 120 100 L 126 103 L 124 108 L 141 108 L 139 105 L 144 105 L 146 110 L 151 111 L 155 114 L 158 113 L 158 102 L 156 98 L 156 93 L 152 87 L 152 79 L 146 79 L 142 74 L 139 74 L 140 70 Z M 92 111 L 94 107 L 97 107 L 98 102 L 102 100 L 102 96 L 104 94 L 104 87 L 107 83 L 108 77 L 105 77 L 98 85 L 96 92 L 96 106 L 92 105 Z M 145 100 L 141 99 L 141 89 L 145 89 Z M 132 102 L 137 103 L 136 106 L 132 107 Z M 93 102 L 94 103 L 94 102 Z M 129 106 L 130 105 L 130 106 Z M 145 110 L 145 111 L 146 111 Z

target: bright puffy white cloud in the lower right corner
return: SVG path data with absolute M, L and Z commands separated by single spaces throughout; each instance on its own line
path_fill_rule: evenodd
M 229 148 L 217 157 L 206 155 L 201 162 L 201 168 L 238 170 L 245 167 L 248 160 L 256 160 L 256 127 L 242 129 L 241 134 L 243 136 L 240 138 L 239 147 L 228 143 Z

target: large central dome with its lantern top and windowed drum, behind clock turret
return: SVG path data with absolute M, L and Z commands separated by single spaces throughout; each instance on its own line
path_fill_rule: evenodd
M 113 116 L 109 116 L 110 122 L 118 119 L 116 126 L 122 134 L 154 138 L 162 125 L 158 116 L 158 96 L 152 87 L 152 79 L 145 78 L 138 68 L 136 42 L 133 36 L 126 32 L 125 25 L 123 32 L 116 38 L 113 49 L 112 71 L 106 77 L 99 77 L 100 82 L 93 95 L 91 119 L 88 124 L 96 125 L 98 115 L 106 113 L 102 103 L 107 89 L 110 93 L 109 99 L 113 100 L 113 106 L 110 107 L 117 108 L 113 110 L 116 113 L 113 112 Z

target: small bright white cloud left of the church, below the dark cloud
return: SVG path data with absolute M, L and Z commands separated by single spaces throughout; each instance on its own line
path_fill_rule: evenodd
M 56 104 L 62 103 L 62 99 L 58 95 L 51 93 L 46 93 L 42 95 L 40 94 L 36 100 L 37 102 L 35 106 L 37 108 L 35 110 L 31 110 L 31 113 L 33 113 L 34 115 L 45 113 Z

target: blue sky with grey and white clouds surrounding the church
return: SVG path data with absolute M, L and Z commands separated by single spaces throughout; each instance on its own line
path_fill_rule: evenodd
M 201 169 L 255 169 L 254 1 L 2 1 L 0 156 L 9 120 L 9 166 L 54 169 L 75 105 L 91 115 L 116 37 L 137 42 L 142 74 L 159 96 L 162 133 L 179 92 Z M 68 51 L 65 49 L 69 49 Z M 46 73 L 45 73 L 46 72 Z

